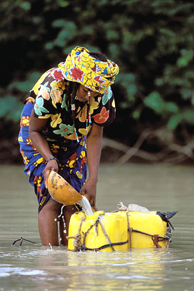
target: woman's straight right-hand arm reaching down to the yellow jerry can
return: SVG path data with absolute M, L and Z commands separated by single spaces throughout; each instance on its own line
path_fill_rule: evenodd
M 87 137 L 87 165 L 89 177 L 80 193 L 85 194 L 90 204 L 96 210 L 96 183 L 98 182 L 98 168 L 103 139 L 103 127 L 93 123 Z

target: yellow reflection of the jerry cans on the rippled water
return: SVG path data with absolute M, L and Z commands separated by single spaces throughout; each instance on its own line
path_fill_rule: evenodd
M 91 280 L 95 274 L 100 284 L 98 287 L 96 286 L 96 290 L 97 288 L 116 290 L 118 286 L 121 286 L 122 289 L 130 287 L 130 290 L 146 290 L 149 280 L 149 288 L 157 289 L 164 285 L 162 279 L 165 276 L 165 265 L 159 263 L 163 255 L 164 252 L 156 252 L 156 250 L 117 252 L 111 256 L 102 253 L 85 253 L 84 258 L 80 261 L 80 266 L 82 266 L 81 270 L 86 268 Z M 68 254 L 68 265 L 78 267 L 74 254 Z M 77 270 L 77 272 L 80 271 Z M 83 283 L 87 284 L 87 281 L 88 277 L 85 277 Z M 71 288 L 77 290 L 78 282 L 73 281 Z

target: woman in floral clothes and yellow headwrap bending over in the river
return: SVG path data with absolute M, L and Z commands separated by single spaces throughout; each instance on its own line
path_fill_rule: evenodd
M 65 62 L 42 75 L 21 113 L 19 143 L 24 173 L 39 203 L 38 226 L 42 245 L 58 246 L 58 216 L 62 204 L 47 190 L 51 170 L 86 195 L 96 210 L 96 183 L 103 126 L 115 117 L 110 85 L 118 66 L 101 53 L 77 46 Z M 87 166 L 89 176 L 87 178 Z M 60 219 L 61 245 L 67 245 L 69 219 L 78 206 L 64 206 Z

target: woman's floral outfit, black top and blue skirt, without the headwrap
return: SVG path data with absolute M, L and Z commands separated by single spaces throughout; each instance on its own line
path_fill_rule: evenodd
M 87 178 L 87 134 L 92 123 L 106 126 L 115 118 L 115 104 L 109 87 L 105 94 L 91 98 L 91 124 L 87 127 L 87 103 L 75 100 L 76 118 L 73 123 L 71 107 L 66 101 L 69 81 L 65 80 L 59 68 L 54 68 L 42 75 L 37 81 L 21 113 L 19 132 L 20 152 L 24 159 L 24 173 L 35 188 L 39 211 L 51 197 L 44 186 L 42 172 L 46 166 L 45 159 L 35 149 L 29 138 L 30 114 L 47 118 L 42 130 L 53 157 L 60 161 L 59 174 L 79 192 Z M 78 134 L 78 139 L 74 130 Z

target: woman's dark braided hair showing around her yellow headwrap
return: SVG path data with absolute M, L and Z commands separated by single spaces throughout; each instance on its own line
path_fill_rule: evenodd
M 105 57 L 105 55 L 103 55 L 103 53 L 100 53 L 98 51 L 90 51 L 89 55 L 91 55 L 91 57 L 93 58 L 96 58 L 96 60 L 100 60 L 101 62 L 107 62 L 107 58 Z M 79 87 L 80 87 L 80 83 L 69 81 L 69 86 L 67 87 L 67 94 L 66 94 L 66 103 L 69 107 L 69 114 L 71 114 L 72 116 L 73 125 L 75 128 L 76 128 L 76 125 L 75 125 L 76 110 L 72 109 L 72 105 L 75 103 L 77 90 Z M 98 95 L 101 96 L 102 94 L 99 93 Z M 87 116 L 89 115 L 89 112 L 90 112 L 90 105 L 91 105 L 91 98 L 89 96 L 89 101 L 87 103 Z

